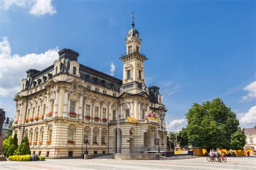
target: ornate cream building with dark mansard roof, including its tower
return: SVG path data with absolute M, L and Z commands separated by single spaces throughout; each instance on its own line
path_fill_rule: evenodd
M 31 152 L 51 158 L 78 157 L 86 146 L 89 154 L 156 150 L 157 140 L 164 150 L 167 110 L 159 88 L 144 83 L 134 22 L 125 42 L 123 80 L 82 65 L 71 49 L 44 70 L 29 69 L 14 98 L 18 142 L 28 135 Z

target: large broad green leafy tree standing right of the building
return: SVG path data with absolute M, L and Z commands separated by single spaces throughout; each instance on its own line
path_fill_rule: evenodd
M 201 105 L 194 103 L 186 118 L 188 141 L 193 146 L 205 147 L 207 150 L 232 147 L 231 136 L 238 131 L 239 121 L 220 98 Z

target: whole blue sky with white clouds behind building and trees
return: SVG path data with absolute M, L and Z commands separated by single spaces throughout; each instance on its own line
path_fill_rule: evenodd
M 78 61 L 122 79 L 125 37 L 142 38 L 147 86 L 159 86 L 167 129 L 186 126 L 193 103 L 215 97 L 256 125 L 255 1 L 0 1 L 0 108 L 14 116 L 13 98 L 30 68 L 42 70 L 70 48 Z

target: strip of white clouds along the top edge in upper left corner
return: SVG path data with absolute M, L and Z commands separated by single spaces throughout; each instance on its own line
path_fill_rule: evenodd
M 8 10 L 12 5 L 29 9 L 29 12 L 35 16 L 54 15 L 55 7 L 52 6 L 52 0 L 3 0 L 0 2 L 2 9 Z

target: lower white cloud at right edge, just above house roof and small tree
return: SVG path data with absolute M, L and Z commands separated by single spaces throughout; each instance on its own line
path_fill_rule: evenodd
M 256 124 L 256 105 L 254 105 L 251 109 L 249 109 L 246 113 L 238 114 L 239 122 L 242 127 L 252 124 Z

